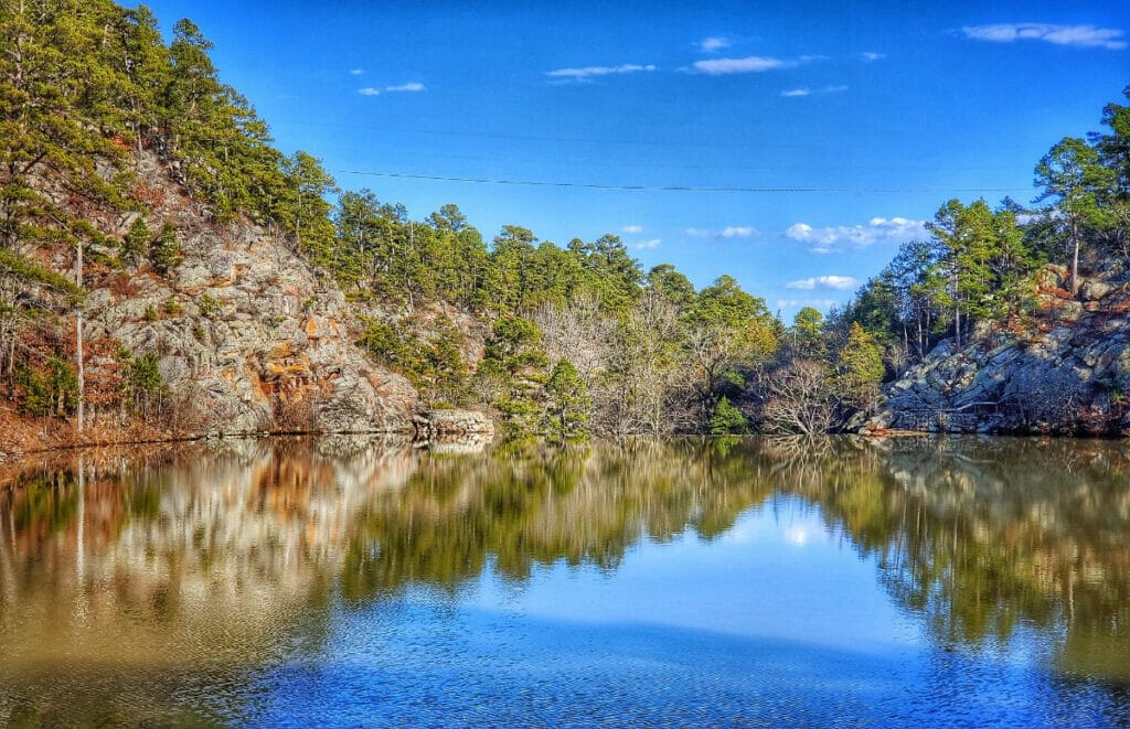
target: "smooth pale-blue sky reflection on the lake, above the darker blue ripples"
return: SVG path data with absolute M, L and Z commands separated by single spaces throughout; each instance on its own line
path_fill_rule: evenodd
M 614 574 L 564 564 L 528 585 L 490 574 L 470 606 L 529 618 L 651 624 L 782 639 L 832 649 L 906 649 L 920 627 L 892 604 L 846 537 L 829 534 L 817 509 L 783 499 L 742 515 L 706 543 L 693 533 L 644 542 Z

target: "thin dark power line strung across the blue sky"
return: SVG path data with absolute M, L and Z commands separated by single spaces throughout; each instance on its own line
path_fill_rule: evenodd
M 624 192 L 702 192 L 702 193 L 819 193 L 819 194 L 889 194 L 889 193 L 1010 193 L 1028 192 L 1032 187 L 824 187 L 824 186 L 694 186 L 694 185 L 618 185 L 603 183 L 579 183 L 549 179 L 493 179 L 488 177 L 445 177 L 442 175 L 412 175 L 409 173 L 385 173 L 360 169 L 334 169 L 334 175 L 358 175 L 364 177 L 391 177 L 395 179 L 421 179 L 428 182 L 455 182 L 476 185 L 519 185 L 525 187 L 579 187 L 584 190 L 611 190 Z

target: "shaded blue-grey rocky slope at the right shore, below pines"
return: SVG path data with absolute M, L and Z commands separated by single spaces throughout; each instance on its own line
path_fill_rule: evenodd
M 1071 297 L 1042 272 L 1035 325 L 1001 325 L 964 349 L 942 342 L 885 389 L 860 432 L 1119 433 L 1130 429 L 1130 282 Z M 1122 279 L 1122 280 L 1119 280 Z

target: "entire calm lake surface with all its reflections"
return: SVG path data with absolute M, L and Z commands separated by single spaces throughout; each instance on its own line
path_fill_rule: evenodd
M 0 724 L 1127 726 L 1130 447 L 9 467 Z

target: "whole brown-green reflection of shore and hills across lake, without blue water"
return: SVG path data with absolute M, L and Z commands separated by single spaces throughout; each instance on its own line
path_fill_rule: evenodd
M 0 712 L 52 722 L 76 704 L 45 696 L 86 692 L 92 720 L 245 721 L 254 696 L 225 703 L 217 682 L 320 650 L 337 599 L 458 603 L 485 571 L 522 585 L 562 562 L 615 573 L 641 544 L 710 542 L 780 498 L 873 561 L 941 649 L 1034 632 L 1058 675 L 1124 691 L 1128 473 L 1119 443 L 1000 439 L 246 440 L 32 464 L 0 488 Z

